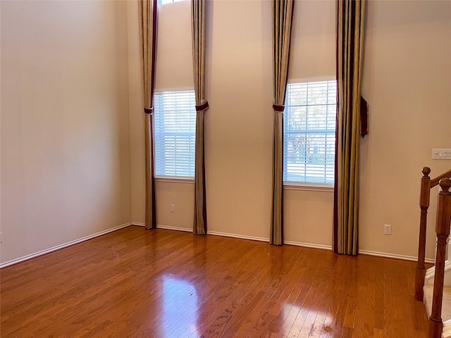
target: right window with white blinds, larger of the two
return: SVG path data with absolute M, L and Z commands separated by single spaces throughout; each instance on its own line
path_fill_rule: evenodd
M 283 181 L 333 184 L 335 80 L 288 84 L 284 112 Z

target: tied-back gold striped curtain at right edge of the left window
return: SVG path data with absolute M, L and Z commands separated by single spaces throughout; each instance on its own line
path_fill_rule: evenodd
M 206 192 L 204 156 L 204 115 L 209 108 L 205 99 L 205 0 L 191 1 L 192 60 L 196 95 L 196 154 L 194 165 L 194 234 L 206 234 Z

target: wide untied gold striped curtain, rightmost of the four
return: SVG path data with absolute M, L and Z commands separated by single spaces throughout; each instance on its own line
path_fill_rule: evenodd
M 360 91 L 365 0 L 337 1 L 337 125 L 333 249 L 357 255 Z

